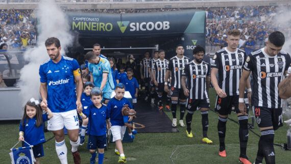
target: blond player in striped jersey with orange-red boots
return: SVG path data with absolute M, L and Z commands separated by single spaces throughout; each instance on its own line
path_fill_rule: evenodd
M 243 50 L 237 49 L 240 32 L 231 30 L 228 32 L 228 46 L 217 51 L 211 63 L 211 81 L 217 93 L 215 111 L 219 113 L 219 122 L 217 130 L 220 140 L 219 155 L 226 157 L 225 152 L 225 132 L 228 114 L 231 113 L 231 108 L 234 106 L 239 121 L 239 143 L 240 155 L 239 161 L 250 163 L 247 157 L 248 144 L 248 112 L 241 113 L 238 110 L 238 85 L 241 76 L 241 67 L 246 61 L 246 53 Z M 219 82 L 217 83 L 216 75 L 219 73 Z M 246 82 L 247 83 L 247 82 Z M 249 88 L 248 96 L 251 96 L 251 86 L 248 81 Z

